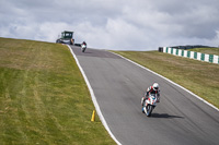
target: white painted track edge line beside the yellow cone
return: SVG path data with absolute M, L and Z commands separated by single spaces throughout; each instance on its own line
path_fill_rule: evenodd
M 85 75 L 83 69 L 82 69 L 82 67 L 80 65 L 78 58 L 76 57 L 74 52 L 72 51 L 72 49 L 71 49 L 71 47 L 70 47 L 69 45 L 68 45 L 68 48 L 70 49 L 70 51 L 71 51 L 71 53 L 72 53 L 72 56 L 73 56 L 73 58 L 74 58 L 74 60 L 76 60 L 76 62 L 77 62 L 77 65 L 79 67 L 80 71 L 81 71 L 81 73 L 82 73 L 82 75 L 83 75 L 83 78 L 85 80 L 85 83 L 87 83 L 87 85 L 88 85 L 88 87 L 89 87 L 89 90 L 90 90 L 90 93 L 91 93 L 92 101 L 93 101 L 93 104 L 94 104 L 94 106 L 95 106 L 95 109 L 96 109 L 96 112 L 97 112 L 97 114 L 99 114 L 99 118 L 100 118 L 101 122 L 102 122 L 103 125 L 105 126 L 105 129 L 106 129 L 106 131 L 108 132 L 108 134 L 111 135 L 111 137 L 116 142 L 116 144 L 122 145 L 122 144 L 116 140 L 116 137 L 114 136 L 114 134 L 111 132 L 111 129 L 108 128 L 108 125 L 107 125 L 107 123 L 106 123 L 106 121 L 105 121 L 105 119 L 104 119 L 104 117 L 103 117 L 103 114 L 102 114 L 102 112 L 101 112 L 101 109 L 100 109 L 100 106 L 99 106 L 99 104 L 97 104 L 97 101 L 96 101 L 96 97 L 95 97 L 95 95 L 94 95 L 93 88 L 91 87 L 91 84 L 90 84 L 90 82 L 89 82 L 89 80 L 88 80 L 88 77 L 87 77 L 87 75 Z

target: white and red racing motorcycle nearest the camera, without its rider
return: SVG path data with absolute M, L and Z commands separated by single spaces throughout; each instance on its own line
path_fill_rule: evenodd
M 145 100 L 143 102 L 143 98 L 141 99 L 141 104 L 142 105 L 142 112 L 146 113 L 147 117 L 150 117 L 152 113 L 152 110 L 155 108 L 157 106 L 157 96 L 155 94 L 150 94 L 148 99 Z

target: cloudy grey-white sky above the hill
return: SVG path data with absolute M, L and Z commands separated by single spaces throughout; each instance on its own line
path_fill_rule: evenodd
M 114 50 L 219 46 L 219 0 L 0 0 L 0 37 Z

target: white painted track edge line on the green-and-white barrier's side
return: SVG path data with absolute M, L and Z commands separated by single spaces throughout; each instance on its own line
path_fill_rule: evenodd
M 160 74 L 158 74 L 158 73 L 155 73 L 155 72 L 149 70 L 148 68 L 145 68 L 145 67 L 142 67 L 142 65 L 140 65 L 140 64 L 134 62 L 132 60 L 129 60 L 129 59 L 127 59 L 127 58 L 125 58 L 125 57 L 123 57 L 123 56 L 120 56 L 120 55 L 118 55 L 118 53 L 115 53 L 115 52 L 112 52 L 112 53 L 117 55 L 117 56 L 119 56 L 120 58 L 123 58 L 123 59 L 125 59 L 125 60 L 127 60 L 127 61 L 129 61 L 129 62 L 131 62 L 131 63 L 134 63 L 134 64 L 136 64 L 136 65 L 138 65 L 138 67 L 140 67 L 140 68 L 142 68 L 142 69 L 145 69 L 145 70 L 147 70 L 147 71 L 149 71 L 149 72 L 151 72 L 151 73 L 153 73 L 153 74 L 155 74 L 155 75 L 158 75 L 158 76 L 160 76 L 160 77 L 162 77 L 162 78 L 164 78 L 165 81 L 168 81 L 168 82 L 172 83 L 173 85 L 175 85 L 175 86 L 177 86 L 177 87 L 180 87 L 180 88 L 186 90 L 186 92 L 189 93 L 191 95 L 195 96 L 195 97 L 198 98 L 199 100 L 204 101 L 205 104 L 209 105 L 210 107 L 212 107 L 214 109 L 216 109 L 217 111 L 219 111 L 219 109 L 218 109 L 217 107 L 215 107 L 215 106 L 211 105 L 210 102 L 206 101 L 206 100 L 203 99 L 201 97 L 197 96 L 196 94 L 192 93 L 191 90 L 186 89 L 185 87 L 183 87 L 183 86 L 181 86 L 181 85 L 174 83 L 173 81 L 171 81 L 171 80 L 169 80 L 169 78 L 166 78 L 166 77 L 164 77 L 164 76 L 162 76 L 162 75 L 160 75 Z

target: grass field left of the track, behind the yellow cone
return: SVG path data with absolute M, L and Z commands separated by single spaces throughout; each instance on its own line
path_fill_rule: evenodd
M 112 145 L 67 46 L 0 38 L 0 144 Z

